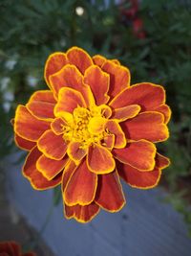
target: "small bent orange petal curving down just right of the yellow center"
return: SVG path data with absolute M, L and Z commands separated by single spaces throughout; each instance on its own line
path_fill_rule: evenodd
M 118 123 L 114 120 L 108 120 L 105 128 L 108 129 L 109 132 L 115 135 L 114 148 L 117 148 L 117 149 L 124 148 L 126 145 L 126 138 L 125 138 L 124 132 L 122 131 Z

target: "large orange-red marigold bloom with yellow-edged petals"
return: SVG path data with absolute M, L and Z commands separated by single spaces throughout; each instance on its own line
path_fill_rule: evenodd
M 159 183 L 169 165 L 154 144 L 169 136 L 163 87 L 130 86 L 129 69 L 117 59 L 91 58 L 77 47 L 48 58 L 45 80 L 50 90 L 16 109 L 15 142 L 30 151 L 23 175 L 34 189 L 61 183 L 66 218 L 85 222 L 100 208 L 119 211 L 119 176 L 139 189 Z

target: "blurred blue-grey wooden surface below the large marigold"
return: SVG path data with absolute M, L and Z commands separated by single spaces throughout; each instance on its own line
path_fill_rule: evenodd
M 12 203 L 32 226 L 40 229 L 52 204 L 53 192 L 34 191 L 21 175 L 21 166 L 15 167 L 11 162 L 8 181 Z M 180 214 L 161 202 L 166 196 L 163 190 L 141 191 L 125 184 L 123 188 L 127 204 L 122 211 L 117 214 L 101 211 L 88 224 L 67 221 L 62 203 L 55 207 L 43 235 L 55 255 L 190 256 L 191 239 L 186 226 Z

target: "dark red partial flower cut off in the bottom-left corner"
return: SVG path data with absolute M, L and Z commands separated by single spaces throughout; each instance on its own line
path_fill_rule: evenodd
M 36 256 L 33 252 L 22 253 L 21 246 L 15 242 L 0 242 L 0 256 Z

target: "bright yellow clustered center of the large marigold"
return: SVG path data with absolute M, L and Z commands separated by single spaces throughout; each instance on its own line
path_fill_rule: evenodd
M 99 143 L 106 133 L 106 120 L 100 107 L 91 110 L 76 107 L 71 120 L 63 127 L 63 138 L 66 142 L 79 142 L 82 148 Z

